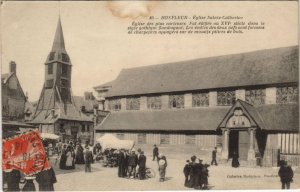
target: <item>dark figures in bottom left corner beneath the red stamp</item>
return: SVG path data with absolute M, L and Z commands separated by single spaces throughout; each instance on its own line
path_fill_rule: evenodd
M 3 183 L 7 185 L 7 191 L 21 191 L 20 184 L 24 184 L 22 191 L 36 191 L 34 180 L 39 185 L 39 191 L 54 191 L 54 183 L 57 182 L 52 167 L 31 176 L 25 176 L 16 169 L 3 172 Z

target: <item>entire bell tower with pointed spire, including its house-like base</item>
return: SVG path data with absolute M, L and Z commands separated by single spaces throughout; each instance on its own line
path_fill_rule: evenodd
M 71 74 L 72 63 L 65 49 L 59 19 L 52 50 L 45 62 L 45 83 L 31 123 L 41 132 L 60 135 L 64 142 L 93 143 L 93 117 L 85 115 L 76 106 Z

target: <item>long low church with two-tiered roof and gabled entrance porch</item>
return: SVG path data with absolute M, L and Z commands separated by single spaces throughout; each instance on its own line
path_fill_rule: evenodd
M 123 69 L 95 137 L 217 146 L 224 162 L 237 153 L 250 166 L 299 166 L 298 71 L 297 46 Z

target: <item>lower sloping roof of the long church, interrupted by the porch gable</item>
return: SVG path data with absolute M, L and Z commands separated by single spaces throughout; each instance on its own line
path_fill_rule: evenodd
M 245 105 L 246 106 L 246 105 Z M 247 110 L 252 107 L 246 106 Z M 112 112 L 96 126 L 99 131 L 215 131 L 230 107 Z M 256 111 L 253 111 L 256 110 Z M 261 129 L 299 131 L 299 105 L 261 105 L 249 110 Z

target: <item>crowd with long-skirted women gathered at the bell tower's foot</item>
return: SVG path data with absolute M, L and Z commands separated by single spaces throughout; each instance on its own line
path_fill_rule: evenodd
M 86 144 L 85 148 L 79 142 L 76 146 L 73 142 L 69 142 L 68 144 L 59 142 L 58 145 L 58 156 L 60 156 L 59 168 L 65 170 L 75 169 L 75 164 L 85 164 L 85 172 L 91 172 L 91 164 L 94 162 L 93 153 L 95 155 L 101 153 L 99 143 L 94 147 Z

